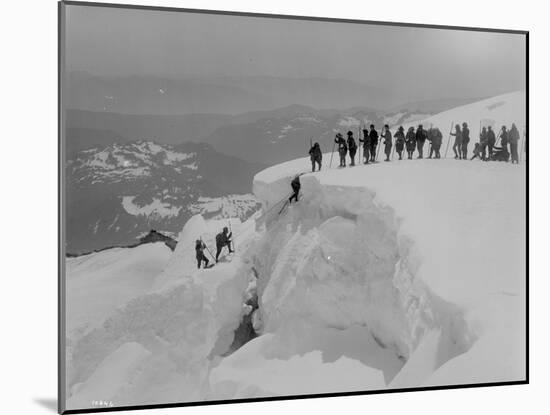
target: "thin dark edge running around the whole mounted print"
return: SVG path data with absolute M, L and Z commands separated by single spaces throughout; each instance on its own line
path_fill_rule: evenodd
M 355 23 L 355 24 L 369 24 L 380 26 L 396 26 L 396 27 L 415 27 L 425 29 L 445 29 L 445 30 L 463 30 L 463 31 L 477 31 L 477 32 L 489 32 L 489 33 L 507 33 L 517 34 L 525 36 L 525 160 L 523 162 L 526 166 L 526 292 L 525 292 L 525 379 L 515 381 L 504 382 L 485 382 L 485 383 L 467 383 L 456 385 L 438 385 L 438 386 L 423 386 L 412 388 L 396 388 L 396 389 L 378 389 L 370 391 L 350 391 L 350 392 L 335 392 L 335 393 L 321 393 L 321 394 L 308 394 L 308 395 L 285 395 L 285 396 L 271 396 L 261 398 L 245 398 L 245 399 L 229 399 L 229 400 L 212 400 L 212 401 L 197 401 L 197 402 L 177 402 L 177 403 L 165 403 L 165 404 L 152 404 L 152 405 L 131 405 L 131 406 L 116 406 L 116 407 L 98 407 L 98 408 L 86 408 L 86 409 L 65 409 L 65 389 L 64 382 L 65 375 L 65 307 L 64 307 L 64 261 L 65 261 L 65 247 L 64 247 L 64 210 L 63 210 L 63 197 L 64 197 L 64 147 L 63 147 L 63 107 L 62 107 L 62 65 L 64 59 L 64 49 L 62 48 L 62 40 L 64 35 L 64 23 L 63 19 L 63 6 L 89 6 L 89 7 L 110 7 L 110 8 L 122 8 L 133 10 L 153 10 L 153 11 L 166 11 L 166 12 L 185 12 L 196 14 L 210 14 L 210 15 L 229 15 L 240 17 L 264 17 L 264 18 L 278 18 L 278 19 L 292 19 L 292 20 L 306 20 L 306 21 L 322 21 L 332 23 Z M 343 18 L 329 18 L 329 17 L 312 17 L 312 16 L 297 16 L 297 15 L 283 15 L 283 14 L 268 14 L 268 13 L 251 13 L 251 12 L 237 12 L 237 11 L 222 11 L 222 10 L 208 10 L 208 9 L 188 9 L 179 7 L 165 7 L 165 6 L 146 6 L 146 5 L 131 5 L 131 4 L 116 4 L 116 3 L 99 3 L 99 2 L 86 2 L 86 1 L 72 1 L 72 0 L 60 0 L 58 2 L 58 413 L 59 414 L 83 414 L 83 413 L 98 413 L 98 412 L 119 412 L 128 410 L 147 410 L 147 409 L 167 409 L 167 408 L 180 408 L 180 407 L 192 407 L 192 406 L 210 406 L 210 405 L 226 405 L 226 404 L 239 404 L 239 403 L 251 403 L 251 402 L 272 402 L 272 401 L 285 401 L 296 399 L 318 399 L 318 398 L 336 398 L 346 396 L 364 396 L 364 395 L 379 395 L 390 393 L 405 393 L 405 392 L 427 392 L 438 390 L 453 390 L 453 389 L 470 389 L 470 388 L 483 388 L 494 386 L 516 386 L 529 384 L 529 30 L 509 30 L 509 29 L 496 29 L 496 28 L 480 28 L 480 27 L 465 27 L 465 26 L 445 26 L 445 25 L 431 25 L 431 24 L 419 24 L 419 23 L 403 23 L 403 22 L 386 22 L 386 21 L 371 21 L 371 20 L 358 20 L 358 19 L 343 19 Z M 61 301 L 63 300 L 63 301 Z M 63 376 L 62 376 L 63 374 Z M 63 379 L 62 379 L 63 378 Z

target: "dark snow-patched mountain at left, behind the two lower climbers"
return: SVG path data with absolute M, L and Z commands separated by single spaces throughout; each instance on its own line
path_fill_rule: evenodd
M 174 235 L 194 214 L 247 218 L 264 165 L 216 152 L 208 144 L 152 141 L 81 150 L 66 162 L 66 250 L 128 245 L 151 229 Z

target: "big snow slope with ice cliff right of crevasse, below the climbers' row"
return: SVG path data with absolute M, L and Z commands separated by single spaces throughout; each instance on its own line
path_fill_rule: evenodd
M 256 175 L 265 209 L 307 165 L 295 160 Z M 524 378 L 524 166 L 414 160 L 301 182 L 303 199 L 285 224 L 266 220 L 271 238 L 285 243 L 277 241 L 282 248 L 264 268 L 265 332 L 293 343 L 320 328 L 364 327 L 404 363 L 397 374 L 381 368 L 386 387 Z M 246 390 L 223 364 L 216 370 L 239 385 L 235 396 Z M 363 386 L 376 384 L 365 378 Z

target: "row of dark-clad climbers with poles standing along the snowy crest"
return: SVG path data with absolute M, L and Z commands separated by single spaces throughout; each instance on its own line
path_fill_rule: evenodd
M 338 146 L 338 154 L 340 156 L 339 167 L 346 167 L 346 157 L 349 154 L 350 167 L 355 166 L 355 156 L 357 154 L 357 143 L 353 137 L 353 132 L 348 131 L 347 140 L 344 139 L 342 134 L 337 133 L 334 138 L 334 147 Z M 450 132 L 449 140 L 451 136 L 455 137 L 453 152 L 455 159 L 466 160 L 468 158 L 468 144 L 470 142 L 470 130 L 467 123 L 462 123 L 462 128 L 459 124 L 455 126 L 455 131 Z M 390 131 L 389 126 L 386 124 L 380 135 L 376 131 L 374 124 L 370 125 L 370 129 L 363 130 L 363 138 L 359 138 L 359 142 L 363 146 L 363 164 L 375 163 L 378 159 L 378 153 L 380 152 L 379 138 L 382 139 L 382 145 L 384 147 L 384 154 L 386 158 L 384 161 L 391 161 L 393 158 L 393 152 L 396 151 L 399 160 L 403 160 L 404 157 L 411 160 L 414 152 L 418 152 L 417 159 L 424 158 L 424 146 L 426 141 L 429 142 L 429 154 L 428 158 L 441 158 L 441 145 L 443 141 L 443 134 L 437 127 L 430 127 L 425 130 L 420 124 L 416 130 L 414 127 L 409 127 L 407 133 L 403 126 L 400 126 L 396 133 L 393 134 Z M 501 147 L 497 147 L 498 138 L 501 139 Z M 502 126 L 499 137 L 495 137 L 495 133 L 492 128 L 483 127 L 480 133 L 480 141 L 474 146 L 474 158 L 480 158 L 481 160 L 497 160 L 508 161 L 510 155 L 512 157 L 512 163 L 519 163 L 518 158 L 518 142 L 520 139 L 519 131 L 515 124 L 512 124 L 510 130 L 506 130 L 506 126 Z M 448 149 L 449 143 L 447 143 Z M 508 151 L 508 146 L 510 151 Z M 333 153 L 334 153 L 333 147 Z M 378 152 L 377 152 L 378 151 Z M 406 152 L 406 155 L 404 155 Z M 323 153 L 319 143 L 315 143 L 309 150 L 311 158 L 311 171 L 314 172 L 315 168 L 320 171 L 322 166 Z M 332 159 L 331 159 L 332 164 Z

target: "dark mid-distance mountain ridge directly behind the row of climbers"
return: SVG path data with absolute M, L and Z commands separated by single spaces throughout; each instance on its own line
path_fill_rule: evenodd
M 133 139 L 179 145 L 202 142 L 223 154 L 244 160 L 272 164 L 307 154 L 309 141 L 319 141 L 329 151 L 335 132 L 352 130 L 357 137 L 360 125 L 373 123 L 379 129 L 411 122 L 433 112 L 398 110 L 380 112 L 354 107 L 348 110 L 318 110 L 290 105 L 271 111 L 254 111 L 236 116 L 189 114 L 181 116 L 127 115 L 66 111 L 67 153 L 125 143 Z

